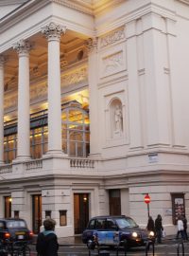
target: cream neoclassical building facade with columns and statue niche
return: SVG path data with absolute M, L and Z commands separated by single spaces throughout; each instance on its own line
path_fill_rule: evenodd
M 189 218 L 189 1 L 0 1 L 0 217 L 60 237 Z

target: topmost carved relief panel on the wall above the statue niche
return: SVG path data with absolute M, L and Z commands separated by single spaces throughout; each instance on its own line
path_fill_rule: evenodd
M 125 27 L 120 27 L 109 33 L 108 35 L 100 38 L 100 47 L 110 46 L 118 41 L 126 38 Z

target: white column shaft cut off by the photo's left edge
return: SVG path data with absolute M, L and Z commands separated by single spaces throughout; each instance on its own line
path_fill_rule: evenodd
M 0 56 L 0 164 L 4 163 L 4 57 Z

